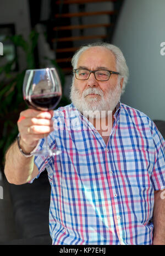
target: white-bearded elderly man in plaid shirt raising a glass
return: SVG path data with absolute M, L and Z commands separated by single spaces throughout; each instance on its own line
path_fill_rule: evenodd
M 122 52 L 92 44 L 72 64 L 71 105 L 20 113 L 22 150 L 14 142 L 7 151 L 8 181 L 32 182 L 47 169 L 52 244 L 165 244 L 165 142 L 149 117 L 120 103 Z M 61 154 L 34 158 L 44 134 Z

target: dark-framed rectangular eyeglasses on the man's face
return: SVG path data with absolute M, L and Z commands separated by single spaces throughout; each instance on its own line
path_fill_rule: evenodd
M 97 81 L 107 81 L 111 74 L 120 75 L 118 72 L 111 70 L 87 70 L 87 69 L 74 69 L 73 70 L 75 78 L 78 80 L 87 80 L 90 74 L 93 73 Z

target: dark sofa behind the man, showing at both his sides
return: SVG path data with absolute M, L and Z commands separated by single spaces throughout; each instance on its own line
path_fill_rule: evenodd
M 165 121 L 154 121 L 165 138 Z M 8 244 L 51 244 L 48 227 L 51 187 L 47 171 L 43 171 L 32 184 L 9 184 L 15 225 L 20 239 Z

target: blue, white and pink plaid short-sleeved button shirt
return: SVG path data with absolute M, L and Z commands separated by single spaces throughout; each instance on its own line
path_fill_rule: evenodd
M 46 168 L 51 184 L 52 244 L 152 244 L 154 191 L 165 188 L 165 142 L 155 124 L 119 103 L 106 145 L 73 104 L 53 119 L 48 143 L 62 154 L 35 157 L 38 176 Z

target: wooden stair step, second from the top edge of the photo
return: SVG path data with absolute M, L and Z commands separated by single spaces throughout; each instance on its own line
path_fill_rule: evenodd
M 78 13 L 62 13 L 62 14 L 55 14 L 55 18 L 72 18 L 72 17 L 83 17 L 83 16 L 93 16 L 93 15 L 105 15 L 111 14 L 116 15 L 118 14 L 117 11 L 101 11 L 101 12 L 78 12 Z

